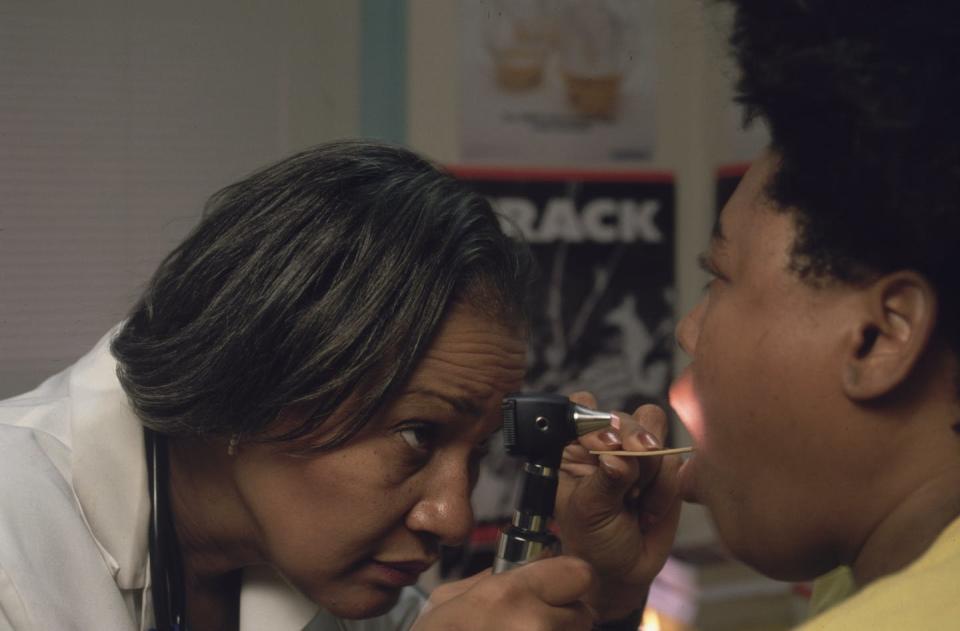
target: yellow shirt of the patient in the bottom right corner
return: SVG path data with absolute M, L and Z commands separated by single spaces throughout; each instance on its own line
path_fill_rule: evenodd
M 905 569 L 852 592 L 846 568 L 819 580 L 811 610 L 823 613 L 797 631 L 960 629 L 960 519 Z

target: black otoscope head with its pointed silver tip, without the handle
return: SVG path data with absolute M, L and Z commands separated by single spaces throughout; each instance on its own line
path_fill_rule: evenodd
M 577 436 L 606 427 L 613 419 L 559 394 L 509 394 L 502 409 L 507 453 L 553 468 L 560 466 L 563 448 Z

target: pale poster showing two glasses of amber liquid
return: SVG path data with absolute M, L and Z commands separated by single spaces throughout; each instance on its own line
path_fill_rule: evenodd
M 653 154 L 652 0 L 462 0 L 460 14 L 465 162 Z

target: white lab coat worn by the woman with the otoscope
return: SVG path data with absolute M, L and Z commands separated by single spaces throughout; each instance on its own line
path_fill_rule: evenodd
M 0 401 L 0 630 L 153 624 L 143 431 L 117 380 L 111 336 L 35 390 Z M 396 631 L 422 604 L 407 589 L 385 616 L 344 621 L 272 571 L 248 571 L 240 629 Z

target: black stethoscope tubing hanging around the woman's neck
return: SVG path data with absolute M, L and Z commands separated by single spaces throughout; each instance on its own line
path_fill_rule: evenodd
M 183 563 L 170 513 L 170 463 L 166 437 L 144 428 L 147 455 L 147 488 L 150 492 L 150 593 L 155 631 L 187 631 L 187 596 L 183 588 Z

